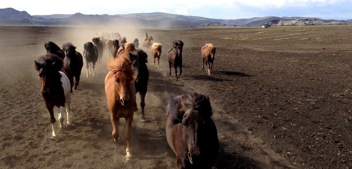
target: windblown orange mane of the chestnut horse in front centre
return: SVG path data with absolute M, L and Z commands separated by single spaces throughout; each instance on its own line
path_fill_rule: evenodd
M 131 77 L 132 81 L 135 81 L 137 77 L 131 65 L 132 62 L 126 57 L 117 57 L 108 61 L 109 71 L 113 72 L 114 74 L 116 74 L 118 71 L 121 71 L 127 74 L 127 76 Z

